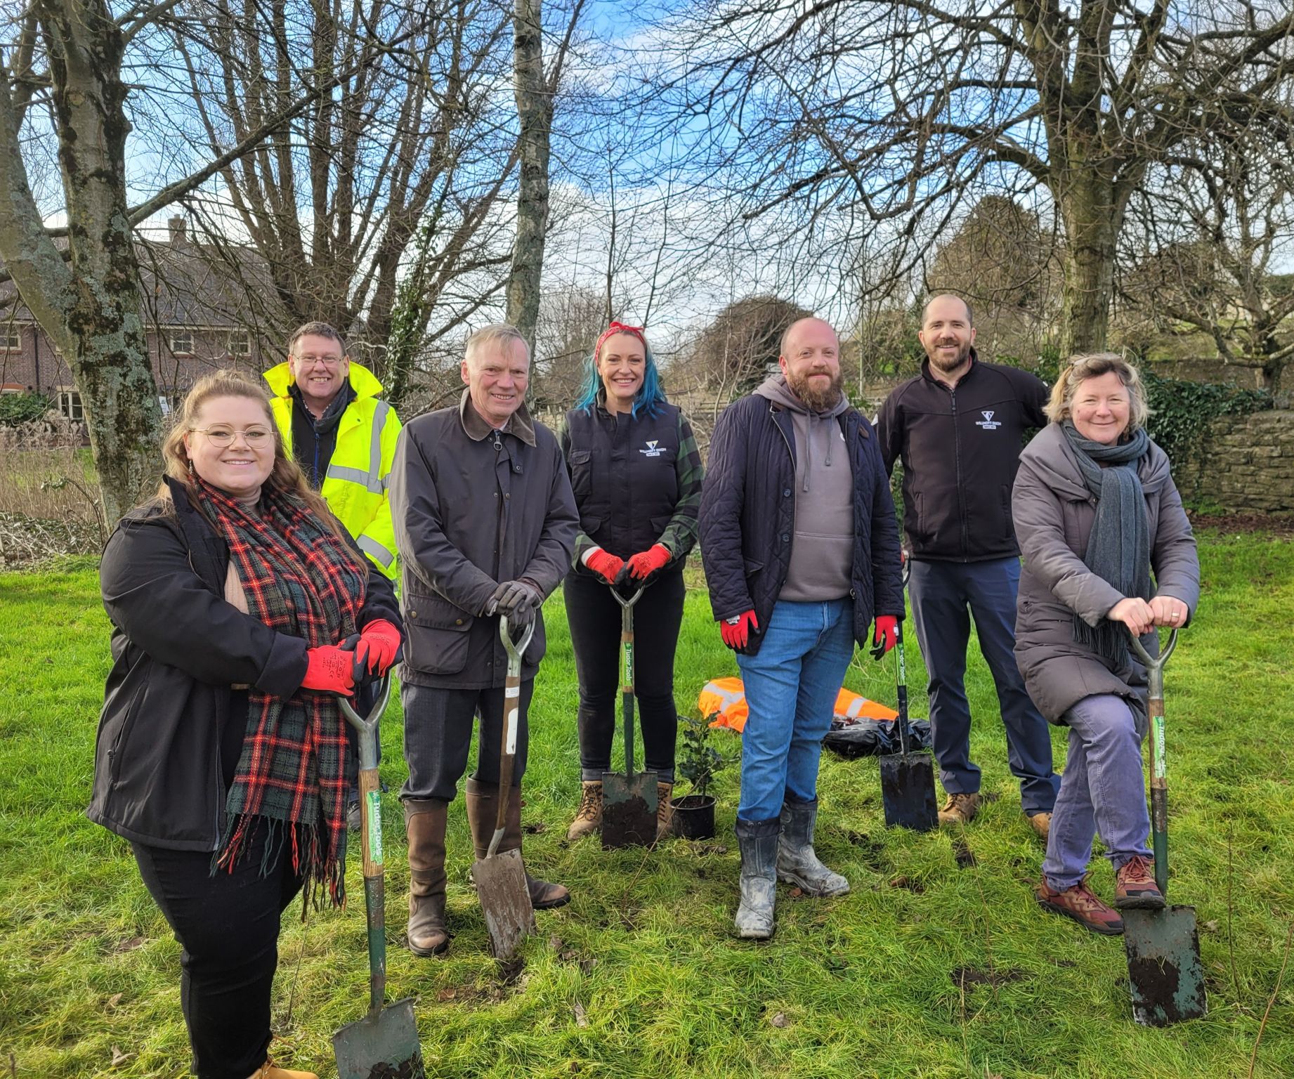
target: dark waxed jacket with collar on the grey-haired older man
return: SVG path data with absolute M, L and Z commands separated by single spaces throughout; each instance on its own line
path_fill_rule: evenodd
M 487 604 L 501 582 L 519 578 L 549 595 L 575 551 L 578 518 L 556 436 L 524 406 L 502 432 L 470 409 L 465 391 L 457 406 L 405 424 L 391 466 L 409 634 L 400 677 L 415 686 L 502 686 L 507 655 Z M 537 613 L 521 678 L 534 677 L 543 651 Z

